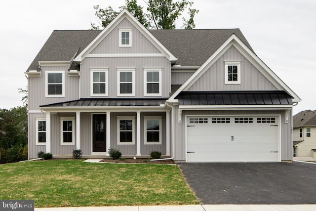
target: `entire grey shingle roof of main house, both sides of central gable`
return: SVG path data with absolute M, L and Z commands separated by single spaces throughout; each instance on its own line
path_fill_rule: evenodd
M 149 31 L 178 58 L 176 64 L 181 66 L 202 65 L 232 34 L 252 50 L 239 29 Z M 38 61 L 70 61 L 100 32 L 101 30 L 54 30 L 27 71 L 40 71 Z

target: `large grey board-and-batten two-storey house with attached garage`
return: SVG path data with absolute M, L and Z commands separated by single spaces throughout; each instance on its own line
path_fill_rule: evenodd
M 26 75 L 29 158 L 292 160 L 301 99 L 239 29 L 147 30 L 124 9 L 102 31 L 53 31 Z

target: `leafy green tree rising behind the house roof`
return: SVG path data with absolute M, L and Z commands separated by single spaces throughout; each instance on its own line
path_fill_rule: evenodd
M 146 2 L 146 1 L 145 1 Z M 198 13 L 197 9 L 191 8 L 193 1 L 189 0 L 148 0 L 146 2 L 147 8 L 137 4 L 137 0 L 125 0 L 125 5 L 120 6 L 120 11 L 126 8 L 134 17 L 148 29 L 175 29 L 176 21 L 183 12 L 189 14 L 189 19 L 182 17 L 183 26 L 185 29 L 195 28 L 194 17 Z M 99 8 L 99 5 L 93 6 L 96 10 L 95 15 L 99 19 L 99 24 L 106 27 L 119 12 L 109 6 L 106 9 Z M 92 29 L 99 29 L 94 23 L 91 23 Z

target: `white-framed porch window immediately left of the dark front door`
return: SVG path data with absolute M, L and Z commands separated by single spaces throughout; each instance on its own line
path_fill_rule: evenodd
M 61 145 L 75 145 L 75 117 L 61 117 Z

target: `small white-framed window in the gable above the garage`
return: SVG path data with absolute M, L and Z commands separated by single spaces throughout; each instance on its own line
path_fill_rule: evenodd
M 240 84 L 240 61 L 225 61 L 225 84 Z

